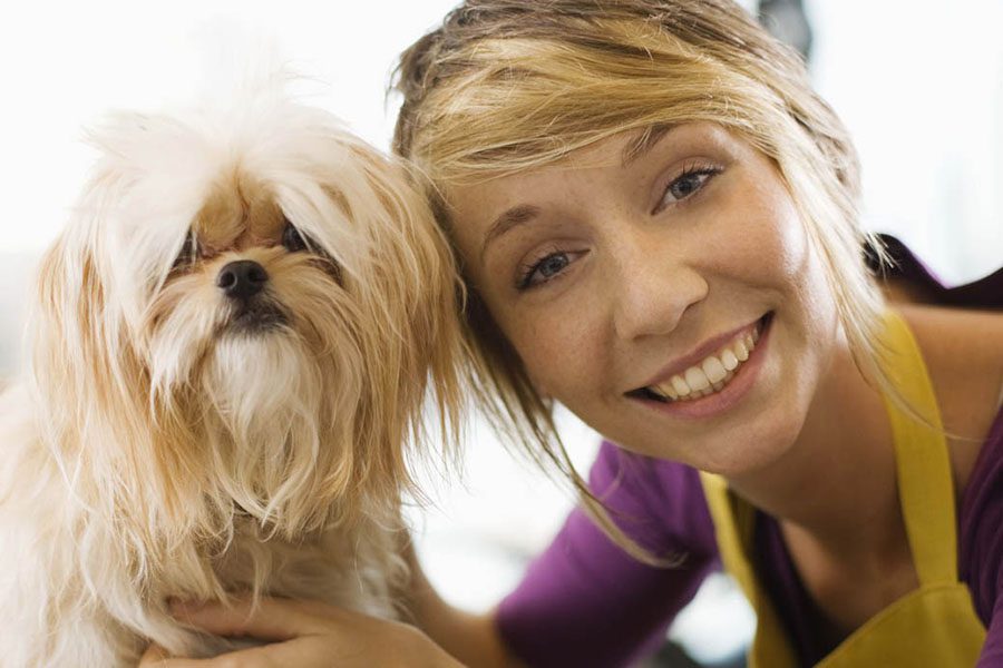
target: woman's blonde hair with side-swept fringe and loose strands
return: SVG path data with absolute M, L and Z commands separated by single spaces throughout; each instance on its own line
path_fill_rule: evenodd
M 733 2 L 468 0 L 402 55 L 395 85 L 395 149 L 430 179 L 447 230 L 450 186 L 549 165 L 625 131 L 641 146 L 666 127 L 712 121 L 743 137 L 791 193 L 857 365 L 890 389 L 878 364 L 883 299 L 861 249 L 884 254 L 858 224 L 856 151 L 799 57 Z M 469 298 L 466 333 L 489 415 L 556 464 L 608 529 L 548 402 L 473 288 Z

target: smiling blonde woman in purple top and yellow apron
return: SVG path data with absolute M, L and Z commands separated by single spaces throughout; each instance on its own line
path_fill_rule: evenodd
M 886 305 L 797 58 L 723 0 L 470 0 L 398 86 L 481 396 L 580 488 L 549 406 L 608 439 L 585 510 L 486 617 L 416 568 L 420 631 L 282 601 L 193 621 L 283 640 L 252 650 L 272 665 L 624 665 L 723 561 L 751 665 L 1003 662 L 1003 274 L 945 291 L 893 246 L 914 304 Z

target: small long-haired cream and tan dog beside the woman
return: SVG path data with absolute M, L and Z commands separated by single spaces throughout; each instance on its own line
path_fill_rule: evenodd
M 461 403 L 459 283 L 407 169 L 279 88 L 94 132 L 0 399 L 3 668 L 234 646 L 169 598 L 397 615 L 408 462 L 441 452 L 422 406 L 448 435 Z

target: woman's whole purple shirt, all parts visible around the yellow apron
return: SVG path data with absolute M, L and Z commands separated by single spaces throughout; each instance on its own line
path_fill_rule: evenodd
M 1003 269 L 955 288 L 944 287 L 897 239 L 884 237 L 902 277 L 939 304 L 1003 306 Z M 656 649 L 675 615 L 704 577 L 720 569 L 714 528 L 695 470 L 629 453 L 603 442 L 590 473 L 614 521 L 676 568 L 637 562 L 581 511 L 506 597 L 497 613 L 503 638 L 530 666 L 630 665 Z M 754 561 L 775 601 L 799 664 L 811 666 L 834 647 L 818 635 L 821 612 L 808 596 L 777 521 L 760 513 Z M 958 514 L 958 578 L 987 629 L 980 668 L 1003 666 L 1003 410 L 990 430 Z

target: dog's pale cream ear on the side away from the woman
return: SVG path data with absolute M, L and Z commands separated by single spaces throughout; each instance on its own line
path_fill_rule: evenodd
M 158 482 L 150 442 L 148 372 L 111 295 L 101 203 L 114 193 L 100 183 L 42 258 L 29 311 L 29 379 L 46 441 L 75 484 L 132 495 L 101 502 L 154 517 L 171 493 Z

